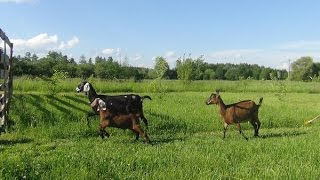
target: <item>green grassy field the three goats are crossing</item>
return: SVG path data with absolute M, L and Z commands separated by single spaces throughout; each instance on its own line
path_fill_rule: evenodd
M 10 111 L 15 126 L 0 136 L 0 179 L 318 179 L 320 83 L 281 81 L 164 81 L 156 93 L 150 82 L 94 80 L 99 92 L 150 95 L 144 112 L 152 145 L 130 131 L 109 128 L 98 136 L 98 119 L 87 127 L 90 109 L 74 91 L 79 79 L 59 83 L 49 95 L 45 81 L 18 79 Z M 264 98 L 260 137 L 243 123 L 245 141 L 223 124 L 215 105 L 205 105 L 214 89 L 226 104 Z

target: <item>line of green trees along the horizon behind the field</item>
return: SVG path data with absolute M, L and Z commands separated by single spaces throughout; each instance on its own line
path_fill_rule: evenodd
M 319 79 L 320 63 L 313 62 L 311 57 L 301 57 L 292 63 L 292 72 L 278 70 L 257 64 L 207 63 L 203 56 L 198 58 L 179 58 L 176 67 L 170 68 L 164 57 L 155 59 L 154 68 L 133 67 L 126 62 L 120 64 L 113 57 L 86 59 L 80 56 L 78 62 L 68 58 L 61 52 L 50 51 L 45 57 L 27 52 L 24 56 L 15 56 L 14 76 L 44 76 L 51 77 L 55 72 L 67 72 L 68 77 L 101 79 L 180 79 L 192 80 L 292 80 Z

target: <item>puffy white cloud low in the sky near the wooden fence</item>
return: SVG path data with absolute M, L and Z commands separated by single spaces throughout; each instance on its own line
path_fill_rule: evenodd
M 47 33 L 38 34 L 30 39 L 12 39 L 15 54 L 24 55 L 26 52 L 46 54 L 50 50 L 65 50 L 79 43 L 79 38 L 73 37 L 65 43 L 59 41 L 58 35 Z M 59 45 L 60 44 L 60 45 Z

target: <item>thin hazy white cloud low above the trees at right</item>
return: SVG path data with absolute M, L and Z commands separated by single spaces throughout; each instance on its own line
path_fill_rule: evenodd
M 205 61 L 208 63 L 259 64 L 288 70 L 289 60 L 293 62 L 302 56 L 311 56 L 314 61 L 319 61 L 320 46 L 319 48 L 317 46 L 316 41 L 304 41 L 303 43 L 287 43 L 286 46 L 279 45 L 277 48 L 214 51 L 205 55 Z

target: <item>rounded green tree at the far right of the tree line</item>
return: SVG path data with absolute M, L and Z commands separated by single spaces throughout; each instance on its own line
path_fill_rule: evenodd
M 310 80 L 317 72 L 312 72 L 313 59 L 309 56 L 301 57 L 291 64 L 292 67 L 292 80 Z

